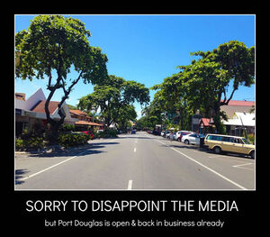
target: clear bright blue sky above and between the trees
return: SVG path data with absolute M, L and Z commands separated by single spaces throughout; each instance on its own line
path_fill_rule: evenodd
M 109 59 L 108 73 L 135 80 L 146 87 L 163 82 L 178 72 L 176 66 L 188 65 L 190 52 L 213 50 L 221 43 L 242 41 L 255 46 L 255 15 L 66 15 L 85 23 L 92 36 L 90 45 L 98 46 Z M 15 15 L 15 32 L 27 29 L 34 15 Z M 70 77 L 76 77 L 71 73 Z M 45 96 L 47 81 L 15 79 L 15 91 L 26 98 L 38 88 Z M 230 88 L 229 88 L 230 91 Z M 67 104 L 76 105 L 81 96 L 93 92 L 92 85 L 78 83 Z M 52 100 L 60 100 L 61 92 Z M 153 99 L 154 91 L 150 92 Z M 255 86 L 239 87 L 234 100 L 255 100 Z M 140 116 L 140 106 L 135 104 Z

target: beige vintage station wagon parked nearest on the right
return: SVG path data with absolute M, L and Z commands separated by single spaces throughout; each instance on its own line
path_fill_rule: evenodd
M 204 145 L 217 154 L 220 154 L 221 151 L 227 151 L 249 155 L 252 159 L 255 158 L 255 145 L 243 137 L 207 134 Z

